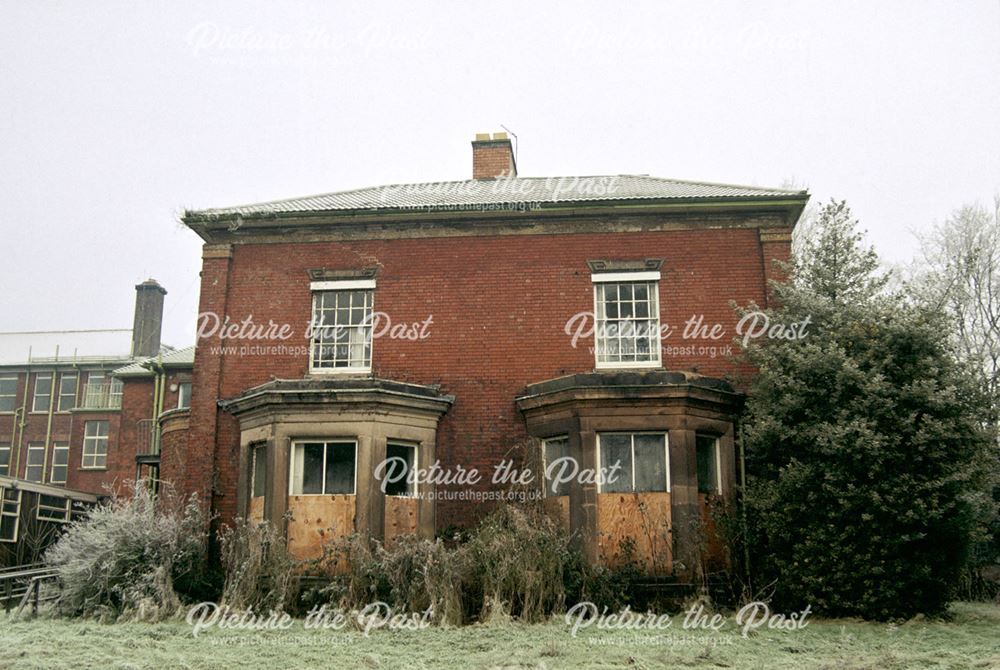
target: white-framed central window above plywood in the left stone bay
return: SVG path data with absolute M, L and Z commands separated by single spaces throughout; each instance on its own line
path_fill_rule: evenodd
M 358 443 L 303 440 L 292 444 L 292 495 L 354 495 Z

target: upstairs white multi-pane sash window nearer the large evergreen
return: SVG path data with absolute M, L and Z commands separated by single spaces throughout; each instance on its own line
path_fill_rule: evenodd
M 659 367 L 660 273 L 601 272 L 591 279 L 597 367 Z

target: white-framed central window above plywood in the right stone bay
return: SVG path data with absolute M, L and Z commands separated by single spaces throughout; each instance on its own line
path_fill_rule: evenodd
M 666 433 L 598 433 L 597 458 L 599 493 L 670 491 Z

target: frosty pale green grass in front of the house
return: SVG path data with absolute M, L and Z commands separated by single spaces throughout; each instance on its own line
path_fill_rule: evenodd
M 0 621 L 0 668 L 1000 668 L 1000 605 L 958 603 L 950 621 L 812 619 L 796 631 L 580 630 L 562 617 L 413 631 L 207 630 L 184 622 Z M 0 615 L 2 618 L 3 615 Z

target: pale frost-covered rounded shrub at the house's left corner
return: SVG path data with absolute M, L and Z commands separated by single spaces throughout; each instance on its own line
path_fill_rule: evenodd
M 174 503 L 137 487 L 113 497 L 45 554 L 62 586 L 57 611 L 111 620 L 174 615 L 175 583 L 203 565 L 205 528 L 194 496 Z

